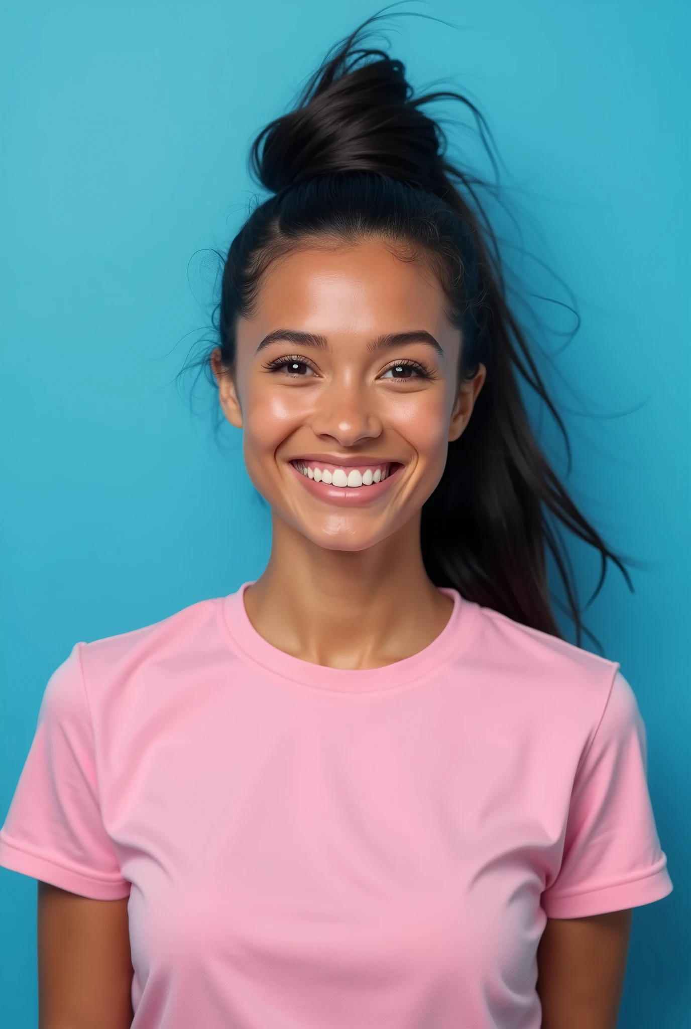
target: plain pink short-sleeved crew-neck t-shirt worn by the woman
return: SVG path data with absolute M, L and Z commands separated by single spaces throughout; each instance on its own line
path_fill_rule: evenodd
M 135 1029 L 539 1029 L 547 917 L 671 889 L 618 666 L 452 594 L 420 653 L 324 668 L 242 594 L 77 644 L 2 863 L 130 896 Z

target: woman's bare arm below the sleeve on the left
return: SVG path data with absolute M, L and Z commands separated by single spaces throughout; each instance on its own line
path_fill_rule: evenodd
M 126 1029 L 132 975 L 126 897 L 38 884 L 39 1029 Z

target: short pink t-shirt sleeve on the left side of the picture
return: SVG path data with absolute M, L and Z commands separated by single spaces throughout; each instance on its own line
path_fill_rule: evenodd
M 96 900 L 128 896 L 101 816 L 94 733 L 77 644 L 51 676 L 0 831 L 0 864 Z

